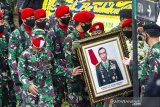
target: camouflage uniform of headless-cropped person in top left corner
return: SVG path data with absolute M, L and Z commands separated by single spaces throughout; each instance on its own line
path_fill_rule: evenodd
M 15 29 L 14 21 L 13 21 L 13 1 L 3 0 L 0 3 L 0 7 L 4 9 L 4 19 L 10 25 L 11 31 Z

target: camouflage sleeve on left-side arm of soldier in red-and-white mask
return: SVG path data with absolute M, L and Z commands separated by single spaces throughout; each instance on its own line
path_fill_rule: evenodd
M 29 86 L 32 84 L 32 81 L 29 81 L 27 75 L 27 61 L 24 57 L 24 53 L 19 57 L 18 60 L 18 76 L 23 84 L 25 90 L 28 90 Z

